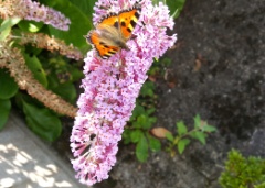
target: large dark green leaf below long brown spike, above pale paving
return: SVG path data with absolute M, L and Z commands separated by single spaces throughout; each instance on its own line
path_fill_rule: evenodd
M 40 109 L 23 101 L 23 112 L 28 126 L 40 137 L 52 142 L 62 132 L 60 119 L 47 109 Z

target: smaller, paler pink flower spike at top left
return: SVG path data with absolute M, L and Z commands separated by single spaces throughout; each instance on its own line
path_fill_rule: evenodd
M 25 20 L 42 21 L 56 29 L 68 30 L 71 21 L 59 11 L 41 5 L 39 2 L 32 2 L 31 0 L 20 0 L 19 5 L 22 11 L 21 14 L 24 15 L 23 19 Z

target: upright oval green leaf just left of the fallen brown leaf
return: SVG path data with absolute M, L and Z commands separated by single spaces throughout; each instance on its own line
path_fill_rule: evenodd
M 148 144 L 147 139 L 144 134 L 136 145 L 136 157 L 139 162 L 146 162 L 148 158 Z

